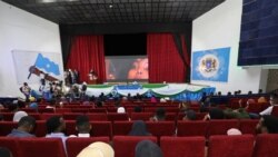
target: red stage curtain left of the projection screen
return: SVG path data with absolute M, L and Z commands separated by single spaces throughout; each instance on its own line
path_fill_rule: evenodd
M 90 69 L 98 75 L 98 82 L 106 81 L 103 36 L 78 36 L 73 39 L 67 62 L 68 69 L 79 71 L 80 81 L 89 82 Z

